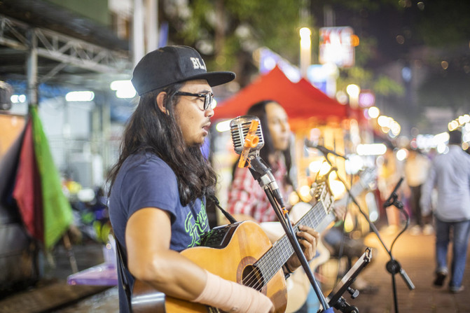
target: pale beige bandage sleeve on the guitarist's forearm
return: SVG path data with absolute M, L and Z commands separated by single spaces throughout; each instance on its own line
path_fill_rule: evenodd
M 207 272 L 207 271 L 206 271 Z M 210 305 L 226 312 L 265 313 L 270 312 L 270 298 L 253 288 L 228 281 L 207 272 L 204 291 L 193 302 Z

